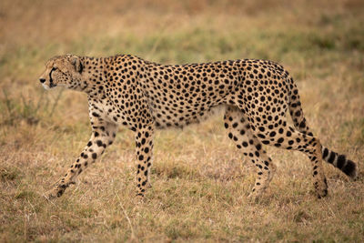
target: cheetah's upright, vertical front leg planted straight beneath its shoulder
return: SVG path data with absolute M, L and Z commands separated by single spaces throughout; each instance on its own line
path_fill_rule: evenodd
M 136 196 L 144 197 L 152 166 L 154 125 L 141 125 L 136 130 Z

